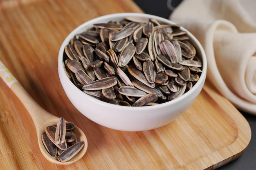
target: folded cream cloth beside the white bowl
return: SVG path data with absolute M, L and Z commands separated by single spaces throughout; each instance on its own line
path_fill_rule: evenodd
M 183 0 L 170 20 L 207 56 L 207 79 L 239 110 L 256 115 L 256 0 Z

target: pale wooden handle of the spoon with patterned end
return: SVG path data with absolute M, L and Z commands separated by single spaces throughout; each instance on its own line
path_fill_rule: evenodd
M 1 62 L 1 60 L 0 77 L 11 89 L 11 91 L 13 91 L 13 93 L 18 97 L 18 99 L 20 99 L 20 102 L 22 102 L 22 104 L 25 106 L 34 121 L 36 128 L 37 125 L 43 124 L 44 122 L 47 122 L 49 118 L 54 117 L 50 113 L 46 112 L 34 101 L 34 99 L 29 95 L 29 93 L 27 93 L 27 91 L 22 87 L 22 85 L 13 76 L 13 74 L 11 74 L 9 69 Z M 42 114 L 42 112 L 44 113 Z

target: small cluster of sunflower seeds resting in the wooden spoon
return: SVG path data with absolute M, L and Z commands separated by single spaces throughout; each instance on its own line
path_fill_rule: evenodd
M 58 161 L 66 162 L 72 159 L 84 146 L 83 141 L 77 141 L 72 132 L 73 123 L 66 123 L 61 117 L 57 124 L 47 126 L 42 134 L 43 144 L 48 153 Z

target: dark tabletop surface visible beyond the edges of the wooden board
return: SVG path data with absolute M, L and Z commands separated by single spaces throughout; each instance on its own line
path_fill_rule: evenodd
M 169 18 L 172 7 L 177 7 L 182 0 L 134 0 L 134 2 L 145 12 L 163 18 Z M 245 152 L 238 159 L 227 163 L 217 170 L 256 170 L 256 116 L 241 112 L 251 126 L 252 138 Z

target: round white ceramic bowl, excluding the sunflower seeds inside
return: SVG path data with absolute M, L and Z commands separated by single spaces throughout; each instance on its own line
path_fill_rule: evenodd
M 65 38 L 61 45 L 58 54 L 58 73 L 61 80 L 61 84 L 64 88 L 67 97 L 70 99 L 72 104 L 83 114 L 92 121 L 106 126 L 108 128 L 124 131 L 142 131 L 158 128 L 164 126 L 180 115 L 182 115 L 193 103 L 196 97 L 199 95 L 204 81 L 206 78 L 207 61 L 204 50 L 198 40 L 186 29 L 188 32 L 191 42 L 197 49 L 197 53 L 202 57 L 202 74 L 198 82 L 193 88 L 182 95 L 181 97 L 172 101 L 158 104 L 155 106 L 142 106 L 142 107 L 128 107 L 119 106 L 102 102 L 98 99 L 90 97 L 83 93 L 77 88 L 67 77 L 63 69 L 63 52 L 65 46 L 70 42 L 70 39 L 77 33 L 88 30 L 94 23 L 106 23 L 108 21 L 119 21 L 124 19 L 126 16 L 138 16 L 145 18 L 155 18 L 160 22 L 167 24 L 175 24 L 170 20 L 160 18 L 154 15 L 142 14 L 142 13 L 115 13 L 110 15 L 104 15 L 99 18 L 92 19 L 78 26 L 72 31 L 67 38 Z

